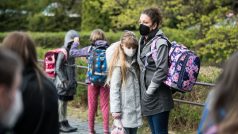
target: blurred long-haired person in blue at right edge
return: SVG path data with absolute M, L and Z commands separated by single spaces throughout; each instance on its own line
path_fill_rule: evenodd
M 198 134 L 238 133 L 238 52 L 226 62 L 225 68 L 209 93 Z

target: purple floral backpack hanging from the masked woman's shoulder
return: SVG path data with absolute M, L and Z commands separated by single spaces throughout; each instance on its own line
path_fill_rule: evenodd
M 156 60 L 158 55 L 157 41 L 166 40 L 169 44 L 169 70 L 166 85 L 180 92 L 189 92 L 195 84 L 200 70 L 200 59 L 187 47 L 170 41 L 166 37 L 158 37 L 151 44 L 151 55 Z

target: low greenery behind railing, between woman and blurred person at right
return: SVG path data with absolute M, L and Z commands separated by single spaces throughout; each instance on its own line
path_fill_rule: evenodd
M 198 81 L 215 83 L 220 71 L 221 70 L 216 67 L 201 67 Z M 192 92 L 184 94 L 176 93 L 173 98 L 203 104 L 211 89 L 211 87 L 195 85 Z M 175 107 L 170 115 L 170 128 L 172 130 L 182 131 L 183 133 L 195 131 L 200 122 L 202 110 L 203 107 L 175 102 Z M 185 130 L 187 132 L 184 132 Z

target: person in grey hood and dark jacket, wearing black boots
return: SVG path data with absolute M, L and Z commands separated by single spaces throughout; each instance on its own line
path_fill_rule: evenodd
M 73 100 L 77 87 L 77 81 L 75 80 L 75 58 L 69 55 L 69 50 L 75 37 L 79 37 L 79 35 L 74 30 L 69 30 L 66 33 L 62 48 L 67 51 L 67 56 L 60 52 L 56 61 L 54 84 L 59 96 L 59 127 L 61 132 L 77 131 L 77 128 L 69 125 L 66 118 L 68 101 Z

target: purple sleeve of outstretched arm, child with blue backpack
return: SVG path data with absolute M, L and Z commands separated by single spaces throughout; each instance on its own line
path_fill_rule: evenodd
M 74 42 L 72 47 L 69 50 L 69 55 L 72 57 L 87 57 L 89 55 L 88 50 L 90 49 L 90 46 L 84 47 L 82 49 L 77 49 L 79 46 L 79 43 Z

